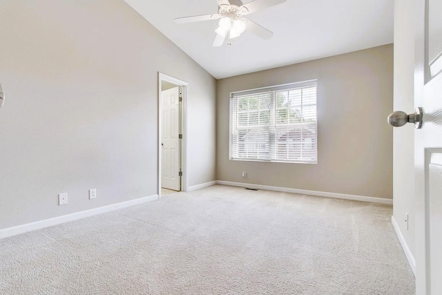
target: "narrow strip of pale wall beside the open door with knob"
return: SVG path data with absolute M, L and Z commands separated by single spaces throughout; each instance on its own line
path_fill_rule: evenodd
M 394 1 L 394 111 L 414 110 L 414 1 Z M 410 33 L 411 32 L 411 33 Z M 414 128 L 393 133 L 393 216 L 414 254 Z M 408 213 L 409 229 L 405 222 Z

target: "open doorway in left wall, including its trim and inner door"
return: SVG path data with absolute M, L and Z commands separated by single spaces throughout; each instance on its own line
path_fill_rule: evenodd
M 188 84 L 158 76 L 158 196 L 187 190 L 186 97 Z

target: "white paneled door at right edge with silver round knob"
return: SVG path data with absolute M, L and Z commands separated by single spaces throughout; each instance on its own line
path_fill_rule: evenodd
M 415 0 L 416 294 L 442 294 L 442 1 Z

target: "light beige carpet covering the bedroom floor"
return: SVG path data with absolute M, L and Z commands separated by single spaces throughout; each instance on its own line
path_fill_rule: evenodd
M 392 207 L 213 186 L 0 240 L 0 294 L 414 294 Z

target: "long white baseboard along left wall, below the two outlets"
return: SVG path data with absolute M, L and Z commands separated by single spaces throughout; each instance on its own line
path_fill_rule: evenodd
M 89 216 L 94 216 L 94 215 L 106 213 L 109 211 L 115 211 L 118 209 L 132 207 L 137 204 L 144 204 L 146 202 L 151 202 L 153 200 L 158 200 L 158 195 L 148 196 L 148 197 L 130 200 L 130 201 L 126 201 L 126 202 L 120 202 L 117 204 L 111 204 L 111 205 L 104 206 L 104 207 L 98 207 L 95 209 L 71 213 L 68 215 L 58 216 L 58 217 L 50 218 L 50 219 L 46 219 L 46 220 L 40 220 L 37 222 L 31 222 L 26 225 L 18 225 L 17 227 L 8 227 L 7 229 L 0 229 L 0 239 L 7 238 L 10 236 L 15 236 L 18 234 L 23 234 L 28 231 L 35 231 L 36 229 L 44 229 L 45 227 L 52 227 L 54 225 L 60 225 L 61 223 L 64 223 L 64 222 L 78 220 L 81 218 L 86 218 Z

